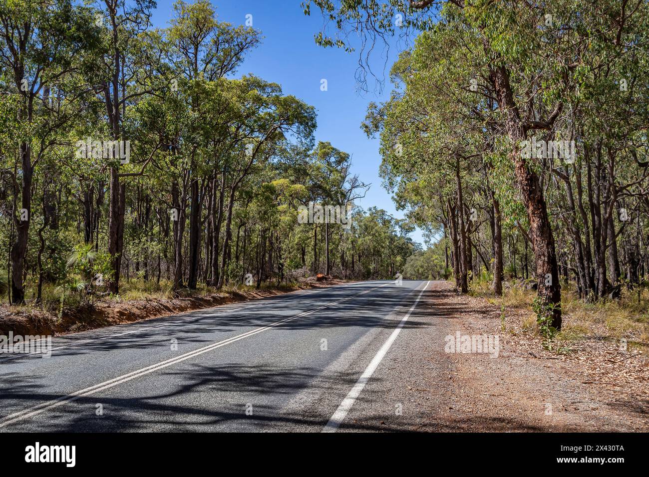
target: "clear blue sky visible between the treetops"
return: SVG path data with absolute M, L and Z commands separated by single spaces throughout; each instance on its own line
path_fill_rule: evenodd
M 189 0 L 191 1 L 191 0 Z M 173 12 L 173 0 L 158 0 L 153 16 L 155 27 L 167 27 Z M 323 18 L 317 8 L 310 17 L 304 16 L 300 0 L 212 0 L 218 19 L 233 25 L 244 24 L 246 15 L 252 15 L 252 26 L 262 32 L 263 42 L 252 51 L 238 75 L 254 73 L 267 81 L 282 85 L 285 94 L 292 94 L 317 109 L 316 141 L 330 141 L 334 147 L 352 154 L 352 173 L 372 186 L 364 199 L 363 208 L 376 206 L 402 218 L 392 199 L 381 186 L 378 167 L 378 139 L 368 139 L 360 128 L 370 101 L 383 101 L 389 96 L 391 84 L 386 81 L 382 93 L 374 91 L 373 80 L 368 80 L 370 92 L 359 93 L 355 73 L 358 53 L 341 49 L 324 49 L 313 41 L 320 31 Z M 389 52 L 385 74 L 396 59 L 398 50 Z M 382 76 L 383 60 L 374 58 L 373 68 Z M 320 90 L 321 79 L 326 79 L 328 91 Z M 423 243 L 421 231 L 411 237 Z

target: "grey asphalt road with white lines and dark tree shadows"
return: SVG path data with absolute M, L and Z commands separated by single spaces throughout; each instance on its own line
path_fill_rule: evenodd
M 401 331 L 426 326 L 427 285 L 310 289 L 0 354 L 0 432 L 354 430 L 395 413 L 371 385 Z

